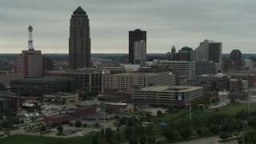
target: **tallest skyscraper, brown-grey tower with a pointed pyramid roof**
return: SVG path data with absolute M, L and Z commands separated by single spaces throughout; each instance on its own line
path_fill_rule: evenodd
M 90 67 L 90 26 L 86 11 L 78 6 L 70 18 L 70 69 Z

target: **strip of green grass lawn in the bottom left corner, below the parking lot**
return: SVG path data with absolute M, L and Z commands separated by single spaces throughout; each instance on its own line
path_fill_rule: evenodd
M 15 134 L 10 137 L 0 138 L 0 143 L 2 144 L 52 144 L 52 143 L 90 143 L 90 136 L 86 137 L 74 137 L 74 138 L 52 138 L 44 136 L 34 136 L 34 135 L 23 135 Z

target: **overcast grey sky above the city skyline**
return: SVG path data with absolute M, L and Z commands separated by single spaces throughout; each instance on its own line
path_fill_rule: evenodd
M 204 39 L 222 42 L 222 53 L 256 54 L 255 0 L 0 0 L 0 54 L 34 49 L 67 54 L 70 17 L 81 6 L 90 19 L 91 53 L 128 54 L 129 30 L 146 30 L 147 53 L 174 45 L 196 49 Z

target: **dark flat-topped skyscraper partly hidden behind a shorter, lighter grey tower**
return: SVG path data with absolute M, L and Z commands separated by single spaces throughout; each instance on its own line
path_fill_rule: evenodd
M 136 29 L 129 31 L 129 63 L 134 64 L 134 42 L 146 42 L 146 31 Z

